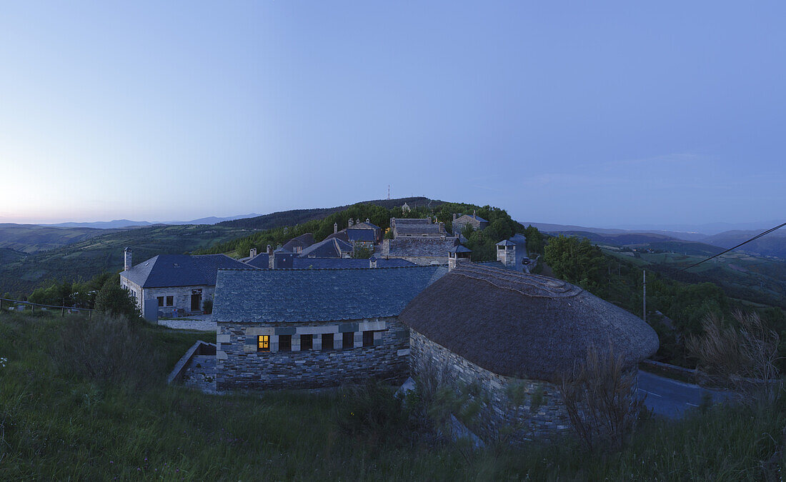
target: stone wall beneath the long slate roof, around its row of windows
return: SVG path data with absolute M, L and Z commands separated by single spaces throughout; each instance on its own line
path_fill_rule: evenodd
M 363 332 L 373 345 L 363 346 Z M 343 334 L 354 346 L 343 349 Z M 323 347 L 321 334 L 333 334 Z M 302 351 L 300 335 L 313 335 Z M 257 337 L 270 337 L 270 351 L 257 351 Z M 292 350 L 279 351 L 279 338 L 292 337 Z M 218 321 L 216 387 L 226 389 L 313 389 L 369 378 L 403 380 L 408 374 L 409 330 L 396 317 L 325 323 L 234 323 Z

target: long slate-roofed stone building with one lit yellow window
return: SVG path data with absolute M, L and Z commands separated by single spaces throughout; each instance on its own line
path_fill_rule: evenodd
M 406 378 L 399 312 L 444 267 L 222 270 L 216 388 L 311 389 Z

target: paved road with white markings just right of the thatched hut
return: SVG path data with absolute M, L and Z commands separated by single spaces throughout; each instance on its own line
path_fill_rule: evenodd
M 639 371 L 638 392 L 647 397 L 645 405 L 648 408 L 668 418 L 680 418 L 686 411 L 699 407 L 705 394 L 715 403 L 733 396 L 729 392 L 705 389 L 699 385 L 659 377 L 646 371 Z

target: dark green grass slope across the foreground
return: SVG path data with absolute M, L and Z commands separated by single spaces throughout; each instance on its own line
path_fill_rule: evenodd
M 406 424 L 347 433 L 353 401 L 339 392 L 209 396 L 164 385 L 205 334 L 140 328 L 152 343 L 138 349 L 166 363 L 145 385 L 64 374 L 52 355 L 59 323 L 0 314 L 2 480 L 762 480 L 786 423 L 780 403 L 714 407 L 645 421 L 616 454 L 567 439 L 472 452 L 429 444 Z

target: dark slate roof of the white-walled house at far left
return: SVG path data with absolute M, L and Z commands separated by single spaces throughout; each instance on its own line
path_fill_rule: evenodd
M 248 268 L 226 254 L 159 254 L 123 271 L 143 288 L 214 286 L 219 268 Z

